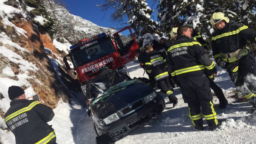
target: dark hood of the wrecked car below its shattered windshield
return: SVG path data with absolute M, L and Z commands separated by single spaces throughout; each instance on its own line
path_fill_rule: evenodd
M 136 82 L 127 86 L 124 90 L 119 91 L 112 96 L 91 106 L 91 110 L 100 119 L 107 118 L 109 115 L 116 113 L 117 110 L 124 108 L 140 98 L 144 98 L 154 90 L 143 82 Z

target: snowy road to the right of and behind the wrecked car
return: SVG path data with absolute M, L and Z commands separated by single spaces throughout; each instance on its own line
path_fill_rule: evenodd
M 128 70 L 132 78 L 143 75 L 143 69 L 138 65 L 130 63 Z M 224 110 L 215 108 L 218 119 L 224 121 L 219 129 L 209 131 L 204 120 L 206 130 L 195 130 L 188 116 L 187 104 L 182 99 L 180 89 L 176 88 L 174 94 L 179 99 L 178 106 L 172 108 L 168 98 L 162 95 L 166 102 L 165 110 L 116 143 L 255 143 L 256 115 L 252 118 L 251 105 L 236 102 L 232 98 L 234 88 L 227 72 L 220 71 L 215 82 L 225 89 L 230 103 Z M 218 107 L 219 101 L 216 97 L 213 102 Z

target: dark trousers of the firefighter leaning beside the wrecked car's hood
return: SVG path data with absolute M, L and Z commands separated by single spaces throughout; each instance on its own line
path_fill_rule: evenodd
M 157 81 L 157 87 L 168 96 L 168 98 L 174 102 L 177 101 L 176 96 L 172 93 L 172 86 L 170 85 L 169 78 L 164 78 L 160 81 Z

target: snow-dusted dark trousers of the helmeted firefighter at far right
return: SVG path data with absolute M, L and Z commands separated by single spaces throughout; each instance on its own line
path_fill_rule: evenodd
M 229 74 L 231 77 L 232 71 L 229 71 Z M 237 81 L 234 84 L 248 101 L 256 103 L 256 63 L 252 53 L 239 59 Z

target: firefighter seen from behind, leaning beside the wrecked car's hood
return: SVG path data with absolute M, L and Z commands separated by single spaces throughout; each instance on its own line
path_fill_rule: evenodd
M 169 74 L 165 67 L 164 59 L 160 52 L 155 51 L 151 45 L 146 48 L 148 52 L 146 57 L 146 70 L 151 74 L 157 82 L 157 87 L 163 91 L 173 103 L 173 106 L 178 104 L 178 99 L 172 93 L 172 86 L 169 83 Z

